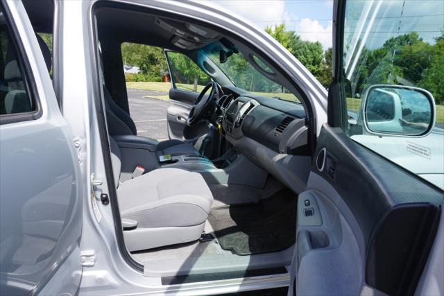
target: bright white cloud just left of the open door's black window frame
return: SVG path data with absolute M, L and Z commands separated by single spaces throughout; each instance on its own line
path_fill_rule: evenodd
M 324 27 L 323 25 L 319 24 L 319 21 L 316 19 L 301 19 L 295 31 L 300 35 L 302 40 L 321 42 L 323 49 L 332 47 L 332 21 L 329 21 L 327 26 Z

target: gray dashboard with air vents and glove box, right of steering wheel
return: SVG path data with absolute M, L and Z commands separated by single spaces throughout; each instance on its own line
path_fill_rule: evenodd
M 302 105 L 234 88 L 224 94 L 220 106 L 226 141 L 294 192 L 304 191 L 311 149 Z

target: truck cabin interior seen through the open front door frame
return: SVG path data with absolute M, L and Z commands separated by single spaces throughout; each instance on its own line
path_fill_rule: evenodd
M 284 272 L 296 241 L 297 197 L 311 164 L 309 122 L 298 92 L 287 91 L 291 85 L 248 46 L 211 28 L 119 8 L 100 8 L 97 27 L 123 236 L 145 275 L 177 280 L 222 271 Z M 178 133 L 168 119 L 167 141 L 137 136 L 128 113 L 123 42 L 186 55 L 212 78 L 200 94 L 171 88 L 165 116 L 178 109 L 187 120 Z M 226 53 L 252 64 L 259 79 L 294 99 L 236 87 L 218 66 Z M 141 167 L 143 174 L 137 173 Z

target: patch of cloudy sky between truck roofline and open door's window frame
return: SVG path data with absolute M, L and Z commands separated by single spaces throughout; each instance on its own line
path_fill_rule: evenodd
M 332 46 L 332 0 L 212 0 L 265 28 L 284 23 L 302 40 Z

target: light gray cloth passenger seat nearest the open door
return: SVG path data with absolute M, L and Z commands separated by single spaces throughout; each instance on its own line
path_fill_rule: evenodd
M 199 173 L 158 168 L 119 184 L 120 151 L 110 138 L 114 182 L 130 251 L 196 241 L 210 214 L 213 196 Z

